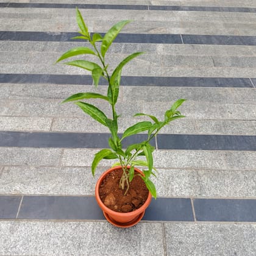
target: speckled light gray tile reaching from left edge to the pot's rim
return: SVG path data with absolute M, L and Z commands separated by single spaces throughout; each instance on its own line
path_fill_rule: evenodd
M 90 167 L 6 166 L 0 176 L 0 194 L 94 195 L 99 175 Z

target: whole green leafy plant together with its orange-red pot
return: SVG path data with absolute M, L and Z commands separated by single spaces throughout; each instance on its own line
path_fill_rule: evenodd
M 143 217 L 146 207 L 151 202 L 151 197 L 157 197 L 155 185 L 150 179 L 151 175 L 156 176 L 152 154 L 155 148 L 150 144 L 150 141 L 166 124 L 184 117 L 177 111 L 177 108 L 185 99 L 178 99 L 174 102 L 166 110 L 162 121 L 158 120 L 155 116 L 145 113 L 135 114 L 135 116 L 145 116 L 150 121 L 140 121 L 133 124 L 120 136 L 118 133 L 119 115 L 116 112 L 116 102 L 119 96 L 121 72 L 130 60 L 144 52 L 130 54 L 110 74 L 108 64 L 105 63 L 105 54 L 121 29 L 130 21 L 119 21 L 102 37 L 102 35 L 96 33 L 90 35 L 88 27 L 78 9 L 76 9 L 76 19 L 80 35 L 74 38 L 88 41 L 91 44 L 91 48 L 78 47 L 70 49 L 57 62 L 77 55 L 93 55 L 98 59 L 98 63 L 79 59 L 65 62 L 64 64 L 90 71 L 95 87 L 98 87 L 99 80 L 103 77 L 103 79 L 107 80 L 108 90 L 106 95 L 91 92 L 77 93 L 63 102 L 73 101 L 91 118 L 110 130 L 111 135 L 108 140 L 110 148 L 101 149 L 95 154 L 91 165 L 92 174 L 94 176 L 98 163 L 102 159 L 116 159 L 117 163 L 99 178 L 96 184 L 96 200 L 108 221 L 118 227 L 130 227 L 137 224 Z M 95 105 L 85 102 L 87 99 L 101 99 L 107 102 L 112 109 L 112 116 L 108 117 Z M 122 143 L 125 138 L 141 132 L 147 132 L 146 140 L 130 144 L 126 149 L 123 148 Z M 143 170 L 140 171 L 135 166 L 142 166 Z

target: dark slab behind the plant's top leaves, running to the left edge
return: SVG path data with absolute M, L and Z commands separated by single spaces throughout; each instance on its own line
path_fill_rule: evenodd
M 101 33 L 102 34 L 102 33 Z M 30 32 L 30 31 L 1 31 L 0 40 L 6 41 L 81 41 L 71 39 L 78 34 L 75 32 Z M 102 34 L 104 35 L 104 34 Z M 172 34 L 119 34 L 115 43 L 171 43 L 181 44 L 180 35 Z

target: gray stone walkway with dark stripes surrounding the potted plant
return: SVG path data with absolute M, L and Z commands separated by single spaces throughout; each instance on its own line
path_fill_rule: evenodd
M 60 105 L 96 91 L 88 73 L 53 65 L 84 45 L 70 40 L 76 5 L 91 32 L 133 20 L 110 65 L 147 52 L 123 71 L 120 132 L 187 99 L 187 118 L 153 141 L 158 199 L 130 229 L 94 201 L 108 130 Z M 255 24 L 252 0 L 0 1 L 0 255 L 255 255 Z

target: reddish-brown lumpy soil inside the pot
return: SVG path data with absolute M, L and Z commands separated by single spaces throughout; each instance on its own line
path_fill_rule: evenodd
M 135 171 L 129 191 L 124 196 L 127 187 L 124 190 L 119 188 L 119 180 L 122 174 L 121 169 L 110 172 L 102 180 L 99 187 L 99 196 L 101 201 L 115 212 L 133 212 L 146 202 L 149 191 L 141 177 L 136 175 L 138 172 Z

